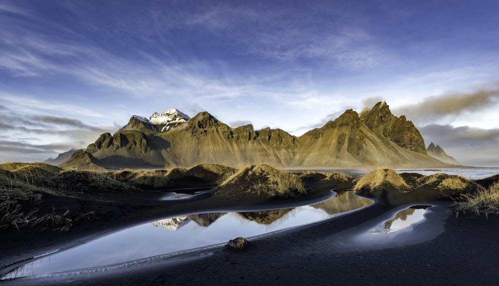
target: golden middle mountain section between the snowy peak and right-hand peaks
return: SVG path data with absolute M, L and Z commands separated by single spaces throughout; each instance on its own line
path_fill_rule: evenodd
M 162 138 L 181 165 L 213 163 L 237 166 L 291 164 L 295 137 L 281 130 L 255 131 L 252 125 L 230 128 L 208 112 L 202 112 Z

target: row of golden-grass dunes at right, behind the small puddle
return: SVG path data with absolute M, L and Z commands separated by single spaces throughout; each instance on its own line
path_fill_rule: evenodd
M 437 173 L 398 174 L 391 169 L 376 169 L 356 179 L 353 189 L 389 202 L 453 200 L 452 210 L 460 214 L 499 215 L 499 175 L 470 180 L 459 175 Z M 385 191 L 385 193 L 383 193 Z

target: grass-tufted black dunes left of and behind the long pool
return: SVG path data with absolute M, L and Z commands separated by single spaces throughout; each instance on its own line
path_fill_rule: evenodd
M 322 174 L 320 178 L 327 178 Z M 320 178 L 307 178 L 313 184 Z M 91 171 L 63 169 L 44 163 L 0 164 L 0 228 L 65 232 L 82 220 L 94 220 L 106 212 L 90 201 L 136 204 L 158 203 L 161 191 L 211 188 L 217 197 L 241 200 L 244 194 L 262 199 L 298 197 L 307 193 L 305 182 L 294 173 L 267 165 L 241 169 L 200 164 L 170 170 L 125 169 Z M 138 200 L 138 201 L 137 201 Z M 57 202 L 57 203 L 54 203 Z

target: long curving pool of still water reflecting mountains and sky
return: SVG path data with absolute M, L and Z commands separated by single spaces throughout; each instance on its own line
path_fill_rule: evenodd
M 20 265 L 0 280 L 76 271 L 226 243 L 316 222 L 370 204 L 351 191 L 312 206 L 240 213 L 203 213 L 135 226 Z

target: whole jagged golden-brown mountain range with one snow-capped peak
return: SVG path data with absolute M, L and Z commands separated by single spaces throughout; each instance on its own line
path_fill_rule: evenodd
M 300 137 L 280 129 L 254 130 L 250 124 L 231 128 L 208 112 L 193 118 L 178 110 L 154 113 L 149 119 L 133 116 L 118 132 L 102 134 L 61 166 L 164 168 L 215 163 L 355 168 L 457 163 L 431 154 L 433 149 L 427 150 L 414 124 L 405 116 L 394 116 L 385 102 L 379 102 L 360 114 L 347 110 Z

